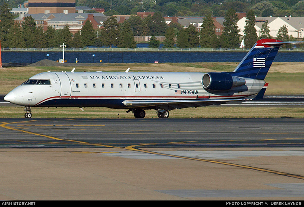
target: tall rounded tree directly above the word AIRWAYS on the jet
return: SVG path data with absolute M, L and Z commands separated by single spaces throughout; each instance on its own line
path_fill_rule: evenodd
M 105 40 L 105 45 L 112 47 L 112 45 L 118 45 L 119 36 L 119 24 L 115 16 L 110 16 L 104 22 L 103 28 L 103 38 Z

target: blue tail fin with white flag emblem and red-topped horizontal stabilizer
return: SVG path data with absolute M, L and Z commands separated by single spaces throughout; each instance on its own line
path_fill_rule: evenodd
M 282 42 L 276 39 L 258 40 L 237 68 L 230 74 L 244 78 L 264 80 L 280 46 L 285 43 L 300 42 Z

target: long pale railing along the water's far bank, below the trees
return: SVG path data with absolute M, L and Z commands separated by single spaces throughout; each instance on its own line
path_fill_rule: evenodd
M 248 52 L 242 48 L 66 48 L 67 52 Z M 1 48 L 3 52 L 60 52 L 62 48 Z M 282 52 L 304 52 L 304 48 L 281 48 Z

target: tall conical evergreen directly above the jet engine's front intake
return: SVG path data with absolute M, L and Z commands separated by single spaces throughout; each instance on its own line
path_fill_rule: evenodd
M 213 47 L 215 46 L 217 37 L 215 33 L 214 21 L 211 14 L 204 18 L 202 24 L 202 30 L 200 32 L 200 45 L 201 47 Z

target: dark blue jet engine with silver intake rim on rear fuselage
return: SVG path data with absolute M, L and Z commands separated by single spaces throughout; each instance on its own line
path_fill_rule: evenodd
M 205 73 L 202 84 L 205 89 L 209 90 L 230 90 L 233 87 L 245 85 L 246 80 L 229 73 Z

